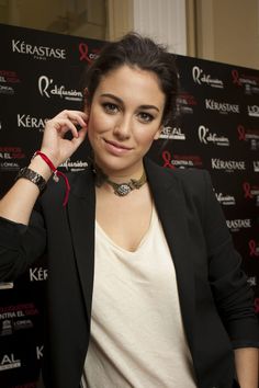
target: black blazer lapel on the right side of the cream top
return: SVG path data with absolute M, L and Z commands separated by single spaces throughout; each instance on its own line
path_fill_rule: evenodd
M 174 263 L 179 299 L 185 333 L 192 345 L 194 313 L 194 276 L 192 252 L 189 247 L 187 206 L 179 179 L 172 171 L 162 169 L 149 160 L 145 168 L 165 236 Z

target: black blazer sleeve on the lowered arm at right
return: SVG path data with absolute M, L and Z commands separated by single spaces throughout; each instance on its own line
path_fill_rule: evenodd
M 222 321 L 233 347 L 259 347 L 259 324 L 254 295 L 241 271 L 222 207 L 204 171 L 203 225 L 209 252 L 209 281 Z

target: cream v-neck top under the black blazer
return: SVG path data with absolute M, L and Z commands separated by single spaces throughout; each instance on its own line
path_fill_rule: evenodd
M 176 273 L 154 207 L 136 251 L 95 222 L 90 345 L 82 387 L 194 388 Z

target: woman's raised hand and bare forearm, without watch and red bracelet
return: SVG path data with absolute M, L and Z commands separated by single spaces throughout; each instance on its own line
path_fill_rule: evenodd
M 41 151 L 44 152 L 57 168 L 69 158 L 83 141 L 87 134 L 88 115 L 79 111 L 63 111 L 46 123 Z M 81 127 L 77 130 L 76 126 Z M 65 139 L 71 132 L 71 140 Z M 46 181 L 52 171 L 47 163 L 38 157 L 29 166 Z M 38 187 L 26 179 L 19 179 L 0 201 L 0 216 L 14 222 L 27 225 L 36 198 Z

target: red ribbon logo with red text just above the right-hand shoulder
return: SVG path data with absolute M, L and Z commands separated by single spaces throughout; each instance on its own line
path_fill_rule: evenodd
M 169 169 L 202 167 L 202 160 L 196 155 L 171 155 L 170 151 L 164 151 L 162 159 L 164 167 Z

